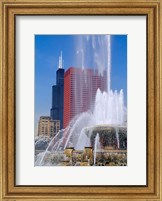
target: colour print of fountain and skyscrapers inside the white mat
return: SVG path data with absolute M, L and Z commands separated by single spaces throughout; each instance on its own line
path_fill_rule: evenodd
M 48 81 L 42 83 L 39 54 L 46 55 L 48 50 L 42 43 L 48 44 L 48 41 L 53 43 L 51 47 L 57 47 L 58 43 L 64 48 L 65 56 L 61 51 L 58 65 L 57 62 L 54 64 L 56 84 L 51 86 L 52 94 L 43 100 L 39 94 L 45 94 L 50 87 L 45 87 Z M 115 44 L 120 46 L 113 47 Z M 66 52 L 69 48 L 72 54 Z M 111 75 L 117 74 L 111 73 L 110 65 L 115 57 L 119 60 L 116 66 L 121 68 L 118 76 L 123 77 L 120 85 L 126 85 L 126 48 L 126 35 L 35 35 L 35 118 L 39 118 L 35 120 L 35 166 L 127 165 L 127 107 L 124 104 L 127 100 L 123 89 L 117 92 L 110 86 Z M 52 57 L 53 49 L 49 51 L 48 55 Z M 91 60 L 86 57 L 89 54 Z M 71 58 L 66 59 L 66 55 Z M 67 67 L 70 63 L 79 67 Z M 45 80 L 49 80 L 46 72 L 43 77 L 47 76 Z M 39 88 L 45 88 L 45 91 L 39 92 Z M 38 116 L 42 114 L 41 108 L 47 97 L 52 97 L 50 116 Z

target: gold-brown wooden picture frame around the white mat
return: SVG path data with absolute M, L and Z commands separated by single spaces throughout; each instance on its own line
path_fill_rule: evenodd
M 0 2 L 0 198 L 1 200 L 162 200 L 162 82 L 159 0 Z M 147 185 L 50 186 L 16 185 L 16 66 L 15 17 L 17 15 L 145 15 L 147 16 Z

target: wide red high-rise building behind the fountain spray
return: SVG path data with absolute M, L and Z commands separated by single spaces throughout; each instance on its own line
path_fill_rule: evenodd
M 64 128 L 74 116 L 93 108 L 96 91 L 107 91 L 107 73 L 70 67 L 64 74 Z

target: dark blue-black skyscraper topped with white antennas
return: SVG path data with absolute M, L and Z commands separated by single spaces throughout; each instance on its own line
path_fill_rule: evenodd
M 64 69 L 62 53 L 59 57 L 58 70 L 56 72 L 56 85 L 52 86 L 52 108 L 51 118 L 60 120 L 60 129 L 63 128 L 63 112 L 64 112 Z

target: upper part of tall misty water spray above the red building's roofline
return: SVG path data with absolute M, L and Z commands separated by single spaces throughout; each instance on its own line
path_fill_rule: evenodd
M 81 67 L 82 70 L 93 67 L 102 76 L 108 66 L 111 70 L 111 35 L 78 36 L 76 41 L 76 65 L 79 68 Z M 108 73 L 110 74 L 110 72 Z

